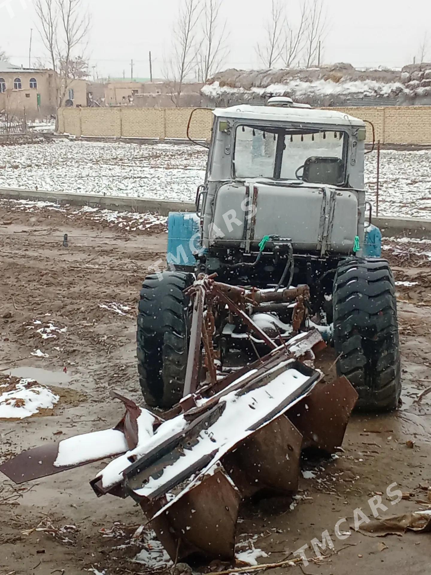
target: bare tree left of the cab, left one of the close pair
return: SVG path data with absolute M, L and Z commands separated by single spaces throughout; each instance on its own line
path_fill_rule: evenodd
M 201 0 L 181 0 L 173 30 L 172 57 L 164 63 L 164 76 L 171 88 L 172 102 L 180 105 L 184 81 L 195 68 L 202 40 L 198 38 Z

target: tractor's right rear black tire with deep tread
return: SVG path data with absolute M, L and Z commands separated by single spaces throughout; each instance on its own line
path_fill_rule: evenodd
M 334 348 L 338 375 L 359 393 L 357 409 L 391 411 L 401 396 L 397 300 L 384 259 L 349 259 L 334 278 Z

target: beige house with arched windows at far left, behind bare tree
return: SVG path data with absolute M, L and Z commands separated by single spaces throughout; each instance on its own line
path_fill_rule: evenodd
M 57 77 L 53 70 L 38 70 L 0 62 L 0 112 L 33 120 L 55 114 Z M 87 106 L 87 81 L 71 80 L 63 105 Z

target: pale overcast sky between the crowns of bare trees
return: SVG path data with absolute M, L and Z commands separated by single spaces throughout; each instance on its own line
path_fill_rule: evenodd
M 11 17 L 5 7 L 9 2 Z M 93 18 L 87 57 L 98 75 L 149 76 L 148 51 L 154 76 L 161 76 L 164 54 L 171 48 L 171 26 L 180 0 L 91 0 Z M 26 5 L 26 8 L 23 6 Z M 297 0 L 291 0 L 294 11 Z M 401 67 L 413 62 L 427 29 L 431 60 L 430 0 L 326 0 L 329 32 L 324 63 L 349 62 L 353 66 Z M 270 9 L 270 0 L 225 0 L 230 30 L 230 55 L 225 67 L 258 66 L 255 44 Z M 28 66 L 30 28 L 32 62 L 44 57 L 31 0 L 0 0 L 0 49 L 12 63 Z

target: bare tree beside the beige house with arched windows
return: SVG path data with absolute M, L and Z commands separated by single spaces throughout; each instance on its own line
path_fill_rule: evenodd
M 35 0 L 39 33 L 56 72 L 58 104 L 64 104 L 77 64 L 84 62 L 90 16 L 84 0 Z M 81 76 L 83 77 L 83 76 Z

